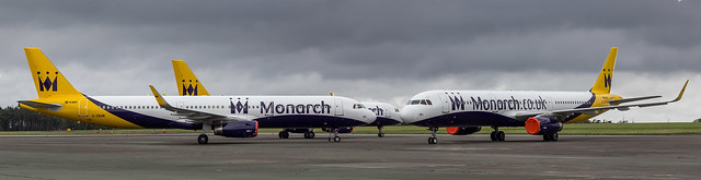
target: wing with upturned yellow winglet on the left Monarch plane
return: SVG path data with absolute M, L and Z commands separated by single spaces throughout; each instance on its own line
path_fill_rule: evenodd
M 158 91 L 156 91 L 156 88 L 152 85 L 149 85 L 149 87 L 151 87 L 153 97 L 156 97 L 156 100 L 158 101 L 159 106 L 161 106 L 165 110 L 170 110 L 174 112 L 171 115 L 177 116 L 181 119 L 186 119 L 191 122 L 212 124 L 215 122 L 222 123 L 222 122 L 233 122 L 233 121 L 251 121 L 255 118 L 254 116 L 250 116 L 250 115 L 222 116 L 222 115 L 205 112 L 199 110 L 173 107 L 170 104 L 168 104 L 168 101 L 165 101 L 165 98 L 163 98 L 163 96 L 161 96 L 161 94 L 159 94 Z

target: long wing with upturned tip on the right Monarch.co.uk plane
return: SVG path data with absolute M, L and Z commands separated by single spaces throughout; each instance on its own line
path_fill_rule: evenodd
M 642 107 L 667 105 L 667 104 L 670 104 L 670 103 L 679 101 L 681 99 L 681 96 L 683 95 L 683 92 L 687 89 L 687 84 L 689 84 L 689 80 L 687 80 L 687 83 L 685 83 L 683 87 L 681 87 L 681 92 L 679 92 L 679 95 L 677 96 L 677 98 L 675 98 L 673 100 L 668 100 L 668 101 L 631 104 L 631 105 L 617 105 L 617 106 L 604 106 L 604 107 L 578 108 L 578 109 L 563 109 L 563 110 L 553 110 L 553 111 L 544 111 L 544 112 L 525 112 L 525 113 L 515 115 L 515 118 L 519 119 L 519 120 L 527 120 L 530 117 L 541 116 L 541 117 L 549 117 L 549 118 L 552 118 L 552 119 L 555 119 L 555 120 L 563 120 L 566 117 L 572 116 L 574 113 L 594 115 L 594 113 L 597 113 L 597 111 L 600 111 L 600 110 L 609 110 L 609 109 L 629 110 L 631 107 L 641 107 L 642 108 Z M 647 97 L 643 97 L 643 98 L 647 99 L 647 98 L 655 98 L 655 97 L 654 96 L 647 96 Z

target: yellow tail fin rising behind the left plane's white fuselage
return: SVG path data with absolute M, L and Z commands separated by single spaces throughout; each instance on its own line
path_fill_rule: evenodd
M 173 60 L 173 72 L 177 92 L 181 96 L 209 96 L 205 86 L 202 85 L 195 73 L 193 73 L 183 60 Z

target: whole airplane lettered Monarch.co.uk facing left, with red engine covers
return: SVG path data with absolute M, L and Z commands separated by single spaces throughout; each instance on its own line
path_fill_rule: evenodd
M 629 104 L 662 96 L 623 98 L 611 94 L 617 53 L 618 47 L 611 48 L 588 92 L 427 91 L 413 96 L 400 116 L 405 123 L 428 127 L 432 132 L 428 144 L 438 143 L 436 132 L 440 127 L 452 135 L 472 134 L 482 127 L 491 127 L 492 141 L 505 141 L 499 127 L 526 127 L 529 134 L 542 135 L 543 141 L 558 141 L 562 123 L 584 121 L 610 109 L 624 111 L 681 99 L 689 80 L 677 98 L 668 101 Z

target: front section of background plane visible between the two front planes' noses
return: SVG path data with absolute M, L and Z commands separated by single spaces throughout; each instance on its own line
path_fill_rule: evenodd
M 377 116 L 377 119 L 365 127 L 377 127 L 377 136 L 383 137 L 382 128 L 384 125 L 397 125 L 402 123 L 402 118 L 399 116 L 399 108 L 386 103 L 364 103 L 368 109 L 370 109 Z

